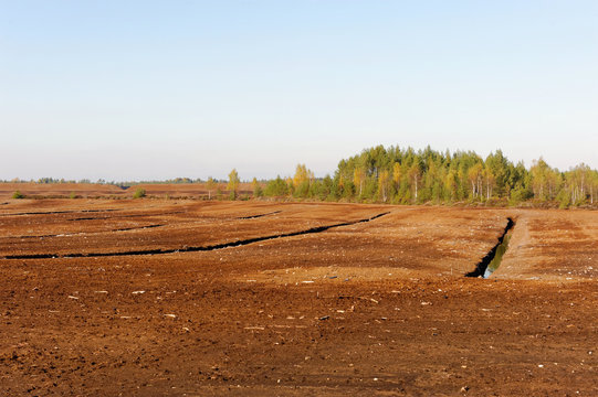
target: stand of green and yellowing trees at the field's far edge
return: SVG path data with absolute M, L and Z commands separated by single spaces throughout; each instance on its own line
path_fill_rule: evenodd
M 334 176 L 315 179 L 300 164 L 293 178 L 279 176 L 255 193 L 392 204 L 533 202 L 569 207 L 595 204 L 598 171 L 581 163 L 562 172 L 542 158 L 527 170 L 522 161 L 514 164 L 501 150 L 483 159 L 473 151 L 378 146 L 342 160 Z

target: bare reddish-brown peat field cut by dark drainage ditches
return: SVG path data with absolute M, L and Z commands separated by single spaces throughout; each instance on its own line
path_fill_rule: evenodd
M 598 212 L 4 202 L 0 395 L 598 395 Z

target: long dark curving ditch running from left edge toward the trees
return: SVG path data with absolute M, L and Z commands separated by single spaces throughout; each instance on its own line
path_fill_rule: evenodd
M 223 248 L 230 248 L 230 247 L 240 247 L 240 246 L 271 240 L 275 238 L 294 237 L 294 236 L 301 236 L 301 235 L 307 235 L 307 234 L 314 234 L 314 233 L 322 233 L 333 227 L 350 226 L 350 225 L 370 222 L 388 214 L 390 214 L 390 212 L 381 213 L 369 218 L 364 218 L 364 219 L 354 221 L 354 222 L 343 222 L 343 223 L 338 223 L 334 225 L 312 227 L 306 230 L 283 233 L 283 234 L 262 236 L 262 237 L 253 237 L 253 238 L 248 238 L 243 240 L 222 243 L 222 244 L 216 244 L 216 245 L 210 245 L 210 246 L 170 248 L 170 249 L 161 249 L 161 248 L 139 249 L 139 250 L 130 250 L 130 251 L 122 251 L 122 253 L 87 253 L 87 254 L 74 253 L 74 254 L 63 254 L 63 255 L 59 255 L 59 254 L 7 255 L 4 257 L 0 257 L 0 259 L 93 258 L 93 257 L 120 257 L 120 256 L 136 256 L 136 255 L 164 255 L 164 254 L 175 254 L 175 253 L 210 251 L 210 250 L 217 250 L 217 249 L 223 249 Z

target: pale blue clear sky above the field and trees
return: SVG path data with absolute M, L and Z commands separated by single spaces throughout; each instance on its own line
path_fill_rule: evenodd
M 598 169 L 598 1 L 0 0 L 0 179 L 317 176 L 374 146 Z

